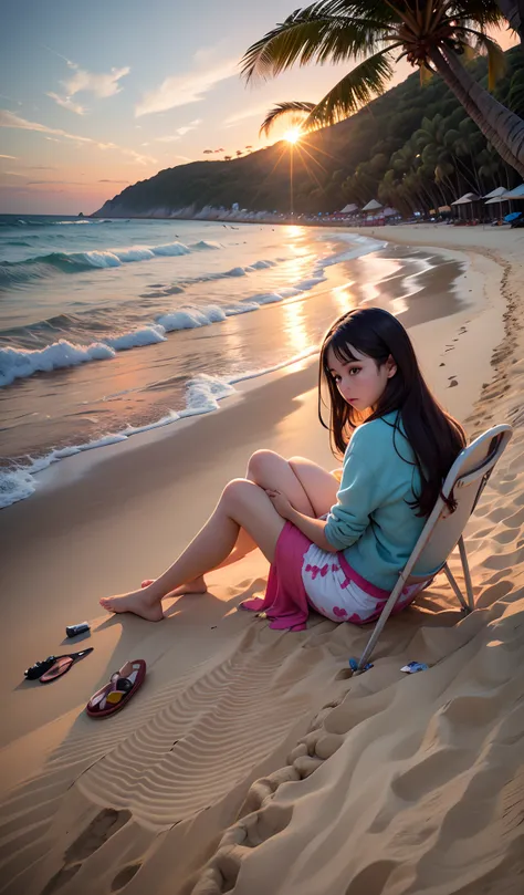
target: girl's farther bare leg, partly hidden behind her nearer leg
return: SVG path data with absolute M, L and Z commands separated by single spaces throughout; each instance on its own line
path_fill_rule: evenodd
M 304 516 L 324 516 L 336 502 L 337 479 L 304 457 L 292 457 L 290 460 L 285 460 L 273 450 L 258 450 L 250 458 L 245 478 L 260 485 L 261 488 L 276 488 L 282 491 L 295 510 Z M 250 533 L 241 528 L 233 550 L 216 569 L 224 569 L 227 565 L 238 562 L 255 548 L 256 543 Z M 153 579 L 148 579 L 145 582 L 146 586 L 153 581 Z M 206 581 L 203 575 L 200 575 L 193 581 L 185 582 L 176 587 L 168 596 L 178 596 L 182 593 L 205 593 L 206 591 Z

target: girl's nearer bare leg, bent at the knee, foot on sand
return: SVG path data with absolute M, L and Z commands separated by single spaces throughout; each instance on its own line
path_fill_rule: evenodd
M 226 486 L 205 527 L 160 577 L 138 591 L 103 597 L 101 605 L 108 612 L 133 612 L 150 622 L 159 622 L 163 599 L 184 582 L 195 581 L 220 565 L 231 553 L 241 527 L 269 562 L 273 562 L 284 520 L 262 488 L 247 479 L 234 479 Z

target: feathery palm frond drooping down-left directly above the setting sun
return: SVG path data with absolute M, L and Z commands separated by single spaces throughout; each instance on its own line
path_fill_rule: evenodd
M 336 124 L 384 93 L 394 75 L 394 66 L 387 55 L 390 49 L 395 46 L 375 53 L 344 75 L 316 104 L 304 122 L 304 128 L 311 131 Z

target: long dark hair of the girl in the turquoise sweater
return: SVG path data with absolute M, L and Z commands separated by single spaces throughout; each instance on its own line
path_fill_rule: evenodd
M 389 356 L 394 358 L 397 372 L 387 381 L 377 406 L 367 416 L 347 404 L 338 392 L 329 373 L 329 347 L 340 363 L 358 360 L 352 348 L 373 357 L 377 367 L 385 364 Z M 331 399 L 328 425 L 322 417 L 322 405 L 325 406 L 322 398 L 323 379 L 327 383 Z M 465 433 L 431 394 L 409 335 L 397 318 L 381 308 L 357 308 L 329 326 L 321 347 L 318 417 L 324 428 L 329 429 L 333 454 L 340 456 L 345 452 L 354 429 L 360 423 L 378 419 L 394 410 L 399 412 L 395 424 L 390 424 L 396 430 L 394 441 L 402 426 L 420 472 L 421 490 L 410 506 L 417 516 L 428 517 L 441 495 L 447 473 L 467 444 Z M 402 456 L 397 447 L 396 450 Z M 446 502 L 451 511 L 454 510 L 452 497 Z

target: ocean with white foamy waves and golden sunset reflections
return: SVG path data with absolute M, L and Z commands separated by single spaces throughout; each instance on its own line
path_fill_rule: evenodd
M 437 263 L 339 229 L 0 216 L 0 507 L 64 457 L 217 409 L 357 304 L 406 312 Z

